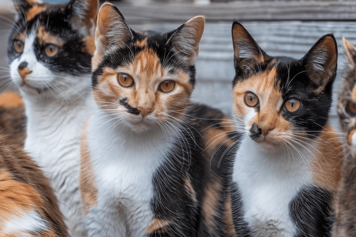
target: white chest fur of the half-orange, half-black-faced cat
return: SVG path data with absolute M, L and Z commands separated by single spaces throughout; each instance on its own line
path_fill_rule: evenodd
M 300 152 L 293 148 L 267 151 L 250 138 L 241 142 L 232 179 L 239 188 L 244 220 L 256 236 L 292 237 L 296 233 L 289 203 L 303 185 L 312 182 L 310 153 Z

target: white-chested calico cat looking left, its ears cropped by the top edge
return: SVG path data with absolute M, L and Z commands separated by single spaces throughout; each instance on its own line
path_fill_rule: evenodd
M 80 136 L 93 103 L 91 55 L 98 0 L 16 0 L 7 44 L 11 79 L 25 102 L 25 151 L 43 167 L 70 234 L 84 236 Z

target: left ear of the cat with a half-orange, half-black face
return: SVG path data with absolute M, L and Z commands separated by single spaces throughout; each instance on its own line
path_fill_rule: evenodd
M 244 74 L 253 65 L 263 63 L 267 54 L 258 46 L 250 33 L 239 22 L 232 23 L 232 45 L 234 63 Z

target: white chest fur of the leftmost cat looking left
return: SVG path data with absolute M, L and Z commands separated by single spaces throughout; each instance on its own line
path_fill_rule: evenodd
M 85 236 L 79 192 L 80 136 L 93 99 L 51 102 L 25 99 L 25 150 L 43 167 L 57 194 L 71 236 Z

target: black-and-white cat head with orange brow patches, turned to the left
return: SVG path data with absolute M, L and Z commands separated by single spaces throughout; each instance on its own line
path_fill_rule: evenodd
M 7 58 L 22 94 L 68 98 L 90 86 L 98 0 L 14 0 L 14 5 Z

